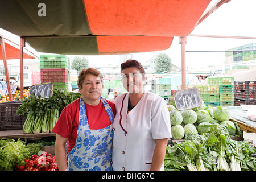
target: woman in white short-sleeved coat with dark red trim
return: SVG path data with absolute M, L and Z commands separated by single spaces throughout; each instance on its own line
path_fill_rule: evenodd
M 143 89 L 145 71 L 136 60 L 121 64 L 124 88 L 129 92 L 115 98 L 113 123 L 113 170 L 163 170 L 170 116 L 166 101 Z

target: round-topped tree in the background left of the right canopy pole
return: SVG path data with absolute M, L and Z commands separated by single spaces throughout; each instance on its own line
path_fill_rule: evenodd
M 156 72 L 170 72 L 172 69 L 172 61 L 171 58 L 167 55 L 167 53 L 159 53 L 156 59 Z

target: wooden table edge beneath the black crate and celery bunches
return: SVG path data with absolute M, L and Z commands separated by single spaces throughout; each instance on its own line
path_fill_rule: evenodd
M 6 130 L 0 131 L 0 139 L 18 139 L 18 138 L 30 138 L 41 139 L 43 137 L 52 137 L 55 133 L 23 133 L 23 130 Z

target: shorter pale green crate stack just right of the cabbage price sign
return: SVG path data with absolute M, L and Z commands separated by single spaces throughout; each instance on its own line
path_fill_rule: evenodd
M 220 106 L 220 87 L 218 85 L 196 85 L 200 93 L 201 100 L 206 106 Z

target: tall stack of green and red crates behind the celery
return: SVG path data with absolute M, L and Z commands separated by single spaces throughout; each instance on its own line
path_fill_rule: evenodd
M 53 88 L 69 90 L 70 61 L 65 55 L 40 55 L 41 82 L 52 82 Z

